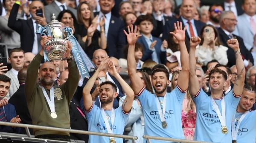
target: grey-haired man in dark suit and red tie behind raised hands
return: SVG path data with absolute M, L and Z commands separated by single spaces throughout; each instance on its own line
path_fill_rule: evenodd
M 177 20 L 171 20 L 166 22 L 163 30 L 163 38 L 167 39 L 169 32 L 174 31 L 174 24 L 176 21 L 181 21 L 182 26 L 186 25 L 186 48 L 189 50 L 189 39 L 192 36 L 200 36 L 201 29 L 204 27 L 205 23 L 194 20 L 195 15 L 195 2 L 194 0 L 183 0 L 180 6 L 181 16 Z

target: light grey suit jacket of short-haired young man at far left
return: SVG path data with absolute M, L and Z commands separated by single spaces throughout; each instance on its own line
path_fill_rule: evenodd
M 9 100 L 20 87 L 20 83 L 18 81 L 17 76 L 14 73 L 12 73 L 11 70 L 9 70 L 5 75 L 11 79 L 11 86 L 9 88 L 9 92 L 6 95 L 7 100 Z

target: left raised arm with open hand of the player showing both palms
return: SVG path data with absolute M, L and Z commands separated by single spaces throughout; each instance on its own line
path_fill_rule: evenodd
M 130 77 L 132 89 L 134 93 L 138 94 L 140 90 L 144 87 L 144 85 L 142 81 L 138 80 L 140 79 L 140 77 L 136 73 L 137 69 L 136 69 L 136 61 L 135 61 L 134 53 L 135 53 L 135 43 L 141 35 L 136 36 L 137 26 L 135 26 L 134 30 L 132 25 L 131 25 L 131 30 L 129 26 L 127 26 L 127 28 L 128 28 L 128 34 L 125 30 L 124 30 L 124 33 L 127 37 L 127 42 L 129 44 L 128 54 L 127 54 L 128 75 Z

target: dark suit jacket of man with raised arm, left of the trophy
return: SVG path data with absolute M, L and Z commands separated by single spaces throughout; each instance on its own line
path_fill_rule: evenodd
M 8 26 L 12 28 L 17 33 L 20 34 L 20 48 L 26 52 L 32 52 L 33 43 L 34 43 L 34 26 L 32 19 L 29 20 L 17 20 L 17 13 L 19 9 L 18 4 L 14 4 L 12 11 L 9 16 Z

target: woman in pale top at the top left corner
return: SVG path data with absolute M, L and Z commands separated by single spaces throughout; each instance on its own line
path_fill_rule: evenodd
M 15 0 L 3 0 L 3 7 L 6 9 L 7 13 L 6 16 L 0 17 L 0 42 L 5 44 L 20 45 L 20 34 L 9 28 L 7 25 L 14 3 Z M 20 14 L 18 14 L 18 17 L 20 17 Z

